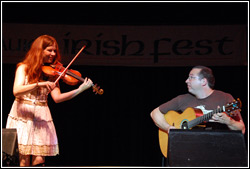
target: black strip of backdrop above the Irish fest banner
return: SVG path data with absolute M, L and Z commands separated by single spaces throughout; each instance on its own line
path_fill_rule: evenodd
M 247 11 L 247 2 L 5 2 L 3 22 L 73 25 L 245 24 L 248 22 Z

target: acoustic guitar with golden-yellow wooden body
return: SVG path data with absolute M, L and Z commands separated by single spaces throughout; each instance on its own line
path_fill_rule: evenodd
M 234 100 L 232 103 L 222 106 L 221 108 L 215 109 L 207 114 L 203 114 L 201 109 L 188 107 L 183 113 L 170 110 L 164 118 L 166 122 L 177 129 L 191 129 L 192 127 L 201 124 L 212 118 L 213 114 L 226 112 L 229 116 L 233 115 L 233 111 L 240 109 L 242 103 L 240 99 Z M 162 154 L 167 158 L 168 152 L 168 133 L 159 129 L 159 144 Z

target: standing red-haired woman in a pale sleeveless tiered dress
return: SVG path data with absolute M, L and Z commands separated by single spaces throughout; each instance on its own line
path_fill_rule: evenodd
M 59 154 L 55 126 L 47 104 L 48 94 L 56 103 L 70 100 L 93 85 L 91 79 L 74 90 L 61 93 L 55 78 L 43 80 L 42 66 L 60 61 L 58 43 L 49 35 L 32 43 L 25 59 L 17 64 L 13 94 L 15 101 L 6 128 L 16 128 L 20 166 L 44 166 L 45 156 Z

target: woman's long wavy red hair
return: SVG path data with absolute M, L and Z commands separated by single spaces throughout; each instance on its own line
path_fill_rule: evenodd
M 55 45 L 56 57 L 54 62 L 61 60 L 61 55 L 58 48 L 56 39 L 49 35 L 41 35 L 32 43 L 30 50 L 27 52 L 25 59 L 17 64 L 17 67 L 21 64 L 26 65 L 26 75 L 28 76 L 29 83 L 38 82 L 42 77 L 42 66 L 43 66 L 43 50 L 48 47 Z

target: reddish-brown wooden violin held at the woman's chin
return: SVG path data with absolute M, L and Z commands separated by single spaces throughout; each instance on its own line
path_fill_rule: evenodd
M 60 62 L 56 62 L 55 64 L 51 64 L 49 66 L 42 66 L 42 71 L 45 74 L 45 76 L 49 77 L 55 77 L 55 76 L 62 76 L 62 80 L 68 84 L 68 85 L 77 85 L 80 81 L 84 82 L 84 78 L 82 78 L 81 73 L 76 70 L 66 70 L 64 75 L 61 75 L 65 68 L 63 67 L 63 64 Z M 97 84 L 92 84 L 93 92 L 95 94 L 102 95 L 103 89 L 100 89 Z

